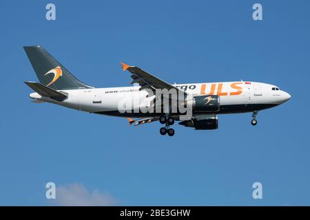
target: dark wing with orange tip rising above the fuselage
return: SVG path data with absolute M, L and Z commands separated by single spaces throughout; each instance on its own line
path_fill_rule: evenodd
M 132 73 L 131 78 L 133 80 L 130 84 L 138 83 L 141 86 L 141 88 L 139 89 L 140 91 L 146 88 L 152 89 L 153 91 L 155 91 L 155 89 L 176 89 L 178 94 L 182 94 L 183 97 L 186 94 L 185 91 L 178 89 L 173 85 L 170 85 L 169 83 L 166 83 L 164 80 L 161 80 L 160 78 L 157 78 L 152 74 L 145 72 L 139 67 L 126 65 L 125 63 L 121 63 L 121 65 L 123 65 L 123 71 L 128 70 L 130 73 Z

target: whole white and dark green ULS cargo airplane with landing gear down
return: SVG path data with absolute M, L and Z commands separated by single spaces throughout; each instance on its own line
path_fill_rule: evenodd
M 170 126 L 175 121 L 196 130 L 218 129 L 218 115 L 225 113 L 251 112 L 251 124 L 256 125 L 258 111 L 276 107 L 291 98 L 275 85 L 243 80 L 172 85 L 125 63 L 121 63 L 123 71 L 130 72 L 134 86 L 95 88 L 78 80 L 43 47 L 23 48 L 39 79 L 39 83 L 24 82 L 35 91 L 30 94 L 33 102 L 124 117 L 134 126 L 159 121 L 164 124 L 161 135 L 173 136 L 174 129 Z M 166 106 L 164 100 L 168 103 Z

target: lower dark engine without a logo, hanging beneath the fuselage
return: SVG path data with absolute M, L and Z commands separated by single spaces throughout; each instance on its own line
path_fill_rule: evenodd
M 178 124 L 193 127 L 196 130 L 214 130 L 218 129 L 218 115 L 198 115 Z

